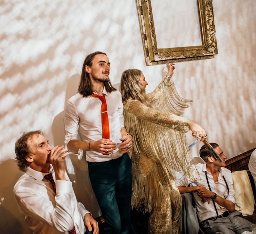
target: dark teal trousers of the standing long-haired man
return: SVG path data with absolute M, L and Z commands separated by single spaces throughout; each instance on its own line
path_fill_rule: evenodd
M 129 155 L 125 153 L 106 162 L 88 162 L 88 171 L 105 219 L 104 234 L 128 234 L 132 195 Z

